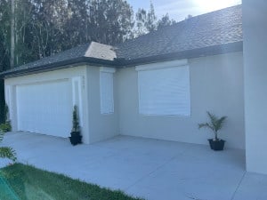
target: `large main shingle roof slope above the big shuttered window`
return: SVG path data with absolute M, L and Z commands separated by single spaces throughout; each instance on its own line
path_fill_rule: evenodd
M 209 12 L 117 45 L 117 57 L 134 60 L 242 41 L 241 5 Z

